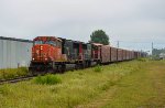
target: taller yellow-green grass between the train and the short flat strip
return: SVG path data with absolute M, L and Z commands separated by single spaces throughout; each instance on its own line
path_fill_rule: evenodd
M 40 76 L 31 82 L 1 85 L 0 107 L 73 108 L 87 105 L 113 88 L 125 76 L 136 73 L 143 63 L 143 61 L 124 62 L 62 75 Z

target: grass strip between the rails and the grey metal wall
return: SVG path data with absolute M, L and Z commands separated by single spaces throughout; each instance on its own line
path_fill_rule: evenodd
M 15 78 L 29 74 L 26 67 L 0 69 L 0 79 Z

